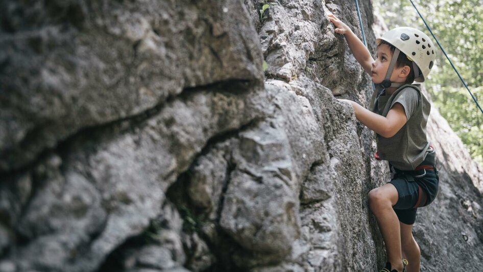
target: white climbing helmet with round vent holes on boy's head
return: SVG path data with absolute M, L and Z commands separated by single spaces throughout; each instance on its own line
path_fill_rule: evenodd
M 402 53 L 412 59 L 418 67 L 415 67 L 415 81 L 424 82 L 427 78 L 429 71 L 434 64 L 436 54 L 434 54 L 434 43 L 424 34 L 415 28 L 400 27 L 392 29 L 382 37 L 376 39 L 376 43 L 379 45 L 381 41 L 387 41 L 394 47 L 399 49 Z M 421 70 L 421 74 L 418 71 Z

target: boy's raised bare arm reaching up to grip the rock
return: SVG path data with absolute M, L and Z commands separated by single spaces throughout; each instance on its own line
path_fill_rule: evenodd
M 337 19 L 335 15 L 327 15 L 328 19 L 335 26 L 335 33 L 343 34 L 346 37 L 349 48 L 354 54 L 355 59 L 363 66 L 364 70 L 371 75 L 372 62 L 374 59 L 371 56 L 369 50 L 364 46 L 364 43 L 352 32 L 352 30 L 344 24 L 341 20 Z

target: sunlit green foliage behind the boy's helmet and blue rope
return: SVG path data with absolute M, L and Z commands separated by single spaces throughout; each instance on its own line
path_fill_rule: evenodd
M 480 23 L 483 1 L 414 2 L 480 105 L 483 104 L 483 24 Z M 375 13 L 384 18 L 389 29 L 414 27 L 431 37 L 409 1 L 374 0 L 373 4 Z M 431 95 L 441 115 L 460 136 L 473 158 L 483 165 L 483 114 L 439 48 L 436 64 L 425 86 L 432 90 Z

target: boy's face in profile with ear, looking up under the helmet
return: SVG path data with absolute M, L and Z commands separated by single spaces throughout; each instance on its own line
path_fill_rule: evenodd
M 379 84 L 384 78 L 385 74 L 388 73 L 389 64 L 392 59 L 391 49 L 387 44 L 381 44 L 377 47 L 377 55 L 372 63 L 372 82 Z M 409 67 L 409 66 L 404 66 Z M 406 81 L 407 74 L 402 72 L 404 67 L 394 67 L 393 73 L 391 74 L 391 82 L 404 82 Z

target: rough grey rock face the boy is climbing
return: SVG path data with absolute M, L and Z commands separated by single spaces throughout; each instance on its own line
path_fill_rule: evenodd
M 372 92 L 326 19 L 360 33 L 354 3 L 263 4 L 0 4 L 1 271 L 385 262 L 367 193 L 388 167 L 334 98 Z M 429 133 L 440 192 L 414 228 L 422 267 L 477 271 L 483 169 L 434 109 Z

